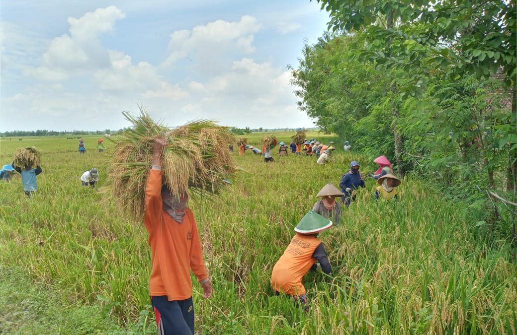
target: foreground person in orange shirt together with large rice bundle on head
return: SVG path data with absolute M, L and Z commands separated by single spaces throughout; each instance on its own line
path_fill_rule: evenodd
M 174 130 L 157 124 L 145 109 L 126 118 L 134 126 L 115 139 L 110 181 L 114 200 L 149 234 L 149 295 L 158 329 L 193 334 L 190 272 L 212 294 L 189 192 L 218 194 L 234 172 L 227 143 L 232 135 L 212 121 L 194 121 Z M 136 161 L 134 161 L 136 160 Z M 142 192 L 145 190 L 145 192 Z

